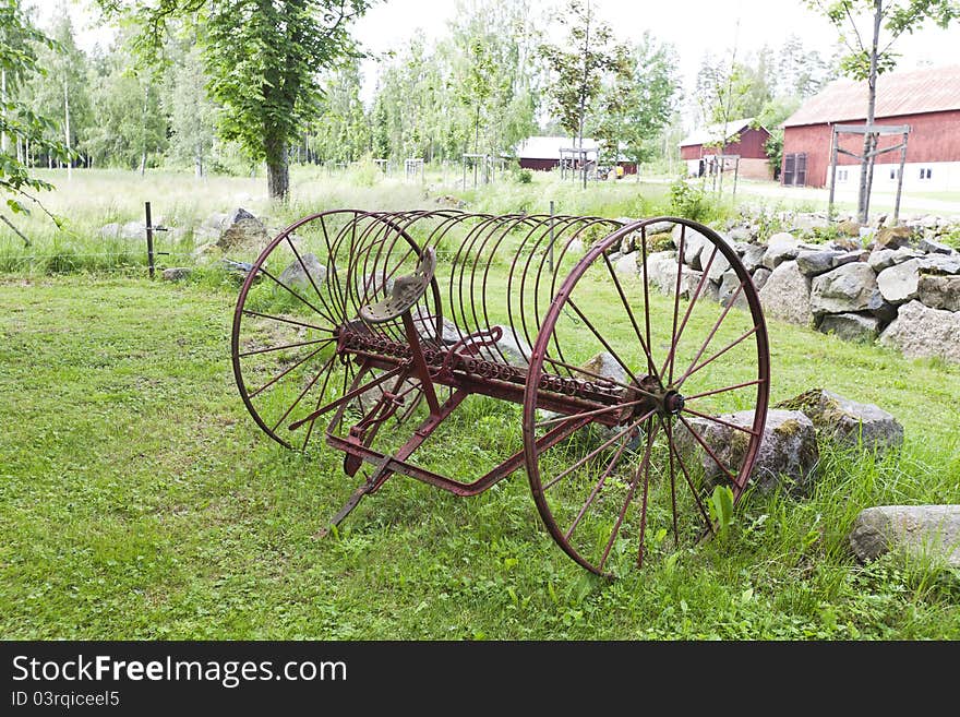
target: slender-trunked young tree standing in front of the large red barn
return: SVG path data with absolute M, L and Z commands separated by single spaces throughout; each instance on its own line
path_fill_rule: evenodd
M 913 33 L 927 21 L 947 27 L 960 16 L 960 4 L 953 0 L 807 0 L 807 4 L 824 14 L 840 33 L 840 40 L 849 50 L 841 61 L 844 74 L 867 83 L 867 128 L 876 119 L 877 77 L 897 64 L 892 51 L 897 38 Z M 877 134 L 865 132 L 856 201 L 862 224 L 869 216 L 876 147 Z

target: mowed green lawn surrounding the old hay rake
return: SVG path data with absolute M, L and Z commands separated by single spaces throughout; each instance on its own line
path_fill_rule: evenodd
M 475 499 L 399 478 L 315 539 L 340 458 L 286 451 L 249 418 L 233 301 L 201 284 L 0 279 L 0 636 L 960 637 L 956 571 L 862 566 L 847 548 L 862 507 L 960 502 L 960 367 L 771 323 L 772 401 L 876 403 L 904 425 L 902 454 L 825 446 L 814 494 L 748 494 L 725 538 L 653 546 L 641 573 L 607 582 L 553 543 L 523 471 Z M 473 443 L 445 446 L 452 470 Z

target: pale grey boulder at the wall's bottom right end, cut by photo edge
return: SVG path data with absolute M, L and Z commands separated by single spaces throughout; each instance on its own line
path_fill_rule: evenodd
M 904 303 L 879 342 L 909 358 L 940 357 L 960 362 L 960 312 L 931 309 L 920 301 Z

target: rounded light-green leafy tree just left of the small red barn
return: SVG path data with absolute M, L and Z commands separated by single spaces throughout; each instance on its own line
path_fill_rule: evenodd
M 607 156 L 615 162 L 622 148 L 639 166 L 658 151 L 657 139 L 676 104 L 676 67 L 673 47 L 644 33 L 628 55 L 625 71 L 614 75 L 600 97 L 593 129 Z

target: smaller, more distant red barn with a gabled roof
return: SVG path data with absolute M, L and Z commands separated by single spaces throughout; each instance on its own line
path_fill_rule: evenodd
M 770 179 L 772 172 L 764 147 L 770 133 L 763 127 L 754 127 L 753 122 L 754 118 L 747 117 L 730 120 L 725 128 L 709 124 L 687 136 L 680 143 L 680 158 L 686 162 L 687 174 L 699 177 L 709 171 L 717 155 L 735 154 L 740 155 L 737 172 L 741 177 Z M 734 138 L 736 142 L 731 142 Z M 720 142 L 723 142 L 722 151 L 717 146 Z

